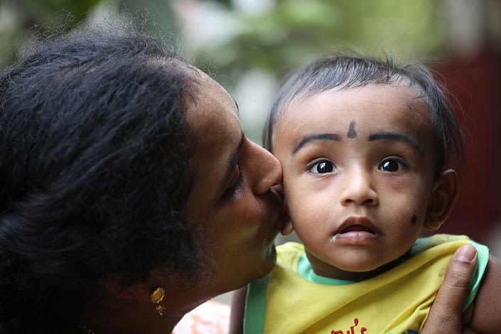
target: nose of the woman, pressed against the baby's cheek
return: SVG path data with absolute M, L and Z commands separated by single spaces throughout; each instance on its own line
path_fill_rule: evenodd
M 242 148 L 241 154 L 247 155 L 247 159 L 245 159 L 247 161 L 247 177 L 252 182 L 254 193 L 266 193 L 272 186 L 281 183 L 281 164 L 269 151 L 252 141 L 248 141 L 247 148 Z

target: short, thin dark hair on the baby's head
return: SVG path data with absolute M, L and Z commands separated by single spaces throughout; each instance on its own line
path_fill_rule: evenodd
M 437 138 L 437 173 L 464 158 L 463 134 L 443 87 L 421 63 L 399 63 L 395 58 L 361 55 L 341 50 L 313 60 L 293 71 L 279 90 L 266 118 L 263 144 L 273 151 L 276 122 L 284 109 L 297 99 L 330 89 L 348 90 L 367 85 L 409 85 L 424 100 Z

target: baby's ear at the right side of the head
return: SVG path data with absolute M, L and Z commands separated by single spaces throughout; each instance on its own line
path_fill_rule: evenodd
M 453 169 L 443 171 L 433 183 L 424 227 L 433 231 L 441 227 L 451 214 L 459 196 L 459 177 Z

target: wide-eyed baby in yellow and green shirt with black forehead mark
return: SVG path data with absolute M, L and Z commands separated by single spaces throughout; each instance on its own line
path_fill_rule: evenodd
M 500 262 L 465 236 L 419 237 L 451 213 L 451 167 L 463 158 L 428 68 L 352 53 L 313 61 L 276 97 L 264 145 L 284 168 L 291 221 L 282 233 L 295 230 L 303 244 L 279 246 L 273 271 L 235 292 L 235 333 L 419 333 L 468 242 L 478 269 L 465 325 L 499 332 Z

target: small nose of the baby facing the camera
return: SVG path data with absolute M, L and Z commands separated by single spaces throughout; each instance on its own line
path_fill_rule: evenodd
M 362 168 L 345 172 L 340 200 L 343 205 L 377 205 L 377 192 L 371 173 Z

